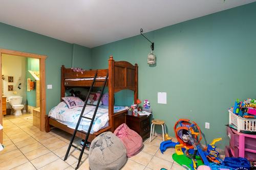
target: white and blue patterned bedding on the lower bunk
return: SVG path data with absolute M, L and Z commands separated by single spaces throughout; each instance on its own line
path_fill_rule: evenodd
M 95 106 L 86 106 L 83 116 L 92 118 Z M 124 106 L 114 106 L 114 113 L 125 110 Z M 75 129 L 78 122 L 79 115 L 81 114 L 82 107 L 69 109 L 65 102 L 60 102 L 57 106 L 52 108 L 49 112 L 51 118 L 56 119 L 61 124 L 67 125 L 69 128 Z M 91 120 L 82 118 L 78 130 L 88 131 Z M 101 105 L 98 108 L 97 114 L 94 119 L 91 133 L 97 132 L 102 128 L 108 126 L 109 123 L 109 107 Z

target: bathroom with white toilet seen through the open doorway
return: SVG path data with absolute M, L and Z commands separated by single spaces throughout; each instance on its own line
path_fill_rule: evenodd
M 39 128 L 39 59 L 2 54 L 4 117 L 25 119 Z

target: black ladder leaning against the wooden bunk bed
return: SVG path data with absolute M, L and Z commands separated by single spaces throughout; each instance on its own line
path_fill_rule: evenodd
M 88 138 L 89 138 L 89 135 L 90 135 L 92 126 L 93 126 L 94 118 L 95 118 L 95 116 L 96 116 L 96 113 L 97 113 L 97 110 L 98 110 L 98 107 L 99 107 L 100 100 L 101 100 L 102 95 L 103 95 L 103 91 L 104 91 L 105 86 L 106 86 L 106 82 L 108 81 L 109 71 L 106 72 L 106 77 L 105 77 L 105 80 L 104 80 L 104 83 L 103 83 L 103 86 L 102 86 L 102 89 L 101 89 L 101 92 L 100 92 L 100 96 L 99 96 L 97 105 L 93 105 L 93 106 L 96 106 L 96 107 L 95 107 L 95 110 L 94 110 L 94 113 L 93 113 L 93 117 L 90 118 L 90 117 L 83 116 L 83 112 L 84 112 L 84 110 L 86 109 L 86 106 L 87 106 L 87 105 L 92 105 L 92 104 L 87 104 L 87 102 L 88 102 L 90 93 L 92 92 L 94 83 L 97 81 L 97 74 L 98 74 L 98 70 L 95 71 L 95 75 L 94 75 L 94 78 L 93 78 L 93 81 L 92 81 L 90 90 L 89 90 L 89 92 L 88 92 L 86 101 L 84 102 L 84 105 L 83 105 L 81 114 L 80 114 L 80 116 L 79 116 L 78 122 L 77 122 L 77 124 L 76 124 L 76 128 L 75 128 L 75 130 L 74 130 L 73 136 L 72 136 L 72 138 L 71 138 L 71 140 L 70 140 L 69 147 L 68 147 L 68 150 L 67 150 L 66 155 L 65 155 L 65 158 L 64 158 L 64 161 L 67 160 L 71 147 L 74 147 L 74 148 L 76 148 L 77 150 L 79 150 L 79 151 L 80 151 L 80 155 L 79 155 L 78 162 L 77 162 L 77 166 L 76 166 L 75 169 L 77 169 L 77 168 L 79 167 L 79 164 L 80 164 L 81 158 L 82 158 L 82 154 L 83 154 L 83 152 L 84 152 L 84 149 L 86 148 L 86 144 L 89 143 L 89 142 L 88 142 Z M 79 127 L 79 125 L 80 125 L 80 122 L 81 122 L 81 119 L 82 119 L 82 118 L 86 118 L 86 119 L 90 119 L 90 120 L 91 120 L 91 124 L 90 124 L 90 126 L 89 126 L 88 132 L 84 132 L 84 131 L 82 131 L 82 130 L 78 130 L 78 127 Z M 75 136 L 76 136 L 76 132 L 81 132 L 81 133 L 83 133 L 83 134 L 86 134 L 86 138 L 84 139 L 84 143 L 83 143 L 81 149 L 80 149 L 79 147 L 77 147 L 76 145 L 73 144 L 74 139 L 75 139 Z

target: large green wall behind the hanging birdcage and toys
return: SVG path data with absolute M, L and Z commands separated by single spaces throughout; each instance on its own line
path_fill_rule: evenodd
M 107 68 L 110 55 L 138 63 L 139 99 L 151 102 L 153 117 L 165 120 L 168 133 L 173 136 L 175 122 L 188 118 L 208 143 L 222 137 L 223 149 L 227 109 L 237 98 L 256 98 L 255 18 L 252 3 L 147 33 L 155 42 L 156 67 L 147 65 L 150 44 L 142 36 L 98 46 L 92 48 L 93 68 Z M 167 92 L 166 105 L 157 104 L 161 91 Z

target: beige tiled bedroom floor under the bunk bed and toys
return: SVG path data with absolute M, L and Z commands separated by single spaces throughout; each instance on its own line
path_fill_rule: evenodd
M 49 133 L 40 132 L 32 125 L 32 115 L 5 116 L 4 145 L 0 152 L 0 169 L 74 169 L 79 151 L 71 150 L 66 161 L 66 154 L 71 135 L 58 129 Z M 174 150 L 164 154 L 159 151 L 162 137 L 155 137 L 152 142 L 144 141 L 142 151 L 128 158 L 122 170 L 160 170 L 162 167 L 170 170 L 184 169 L 172 159 Z M 75 143 L 79 145 L 80 139 Z M 79 169 L 88 170 L 88 151 L 83 154 Z

